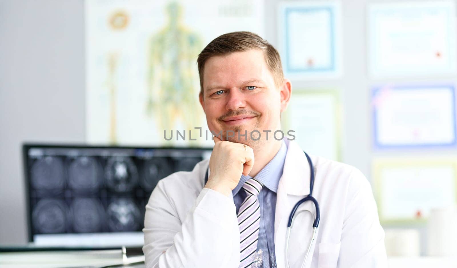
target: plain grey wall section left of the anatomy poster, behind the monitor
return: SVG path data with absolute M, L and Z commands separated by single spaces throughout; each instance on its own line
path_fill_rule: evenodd
M 83 7 L 0 0 L 0 243 L 27 241 L 21 143 L 85 139 Z

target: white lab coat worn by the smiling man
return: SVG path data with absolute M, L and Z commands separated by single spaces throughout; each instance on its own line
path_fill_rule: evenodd
M 300 146 L 287 141 L 284 171 L 276 195 L 275 253 L 285 264 L 285 236 L 292 207 L 309 194 L 310 170 Z M 307 268 L 388 267 L 384 231 L 372 189 L 352 166 L 311 156 L 315 167 L 313 196 L 320 225 Z M 146 268 L 238 268 L 239 228 L 233 197 L 203 189 L 208 160 L 191 172 L 160 180 L 146 205 Z M 210 171 L 211 172 L 211 171 Z M 308 209 L 313 212 L 298 213 Z M 298 209 L 289 241 L 291 268 L 300 268 L 310 241 L 315 209 Z M 310 263 L 311 261 L 311 263 Z

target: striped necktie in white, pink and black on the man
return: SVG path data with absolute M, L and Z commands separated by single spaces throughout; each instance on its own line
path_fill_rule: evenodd
M 239 268 L 256 267 L 257 241 L 260 229 L 260 203 L 257 195 L 263 185 L 250 178 L 244 183 L 246 198 L 238 210 L 241 258 Z

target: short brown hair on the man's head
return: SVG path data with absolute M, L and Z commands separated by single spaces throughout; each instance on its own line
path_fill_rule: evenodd
M 284 74 L 282 73 L 281 58 L 276 48 L 253 32 L 229 32 L 211 41 L 198 54 L 197 65 L 198 74 L 200 75 L 200 94 L 203 93 L 203 70 L 209 58 L 250 49 L 260 49 L 264 52 L 266 65 L 273 74 L 276 86 L 280 86 L 284 81 Z

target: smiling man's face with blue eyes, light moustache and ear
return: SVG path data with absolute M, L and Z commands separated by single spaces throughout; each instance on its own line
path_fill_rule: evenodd
M 248 50 L 207 60 L 200 103 L 213 133 L 222 131 L 223 140 L 256 148 L 266 142 L 266 131 L 271 131 L 268 141 L 276 141 L 273 133 L 281 129 L 290 91 L 288 80 L 275 85 L 263 51 Z

